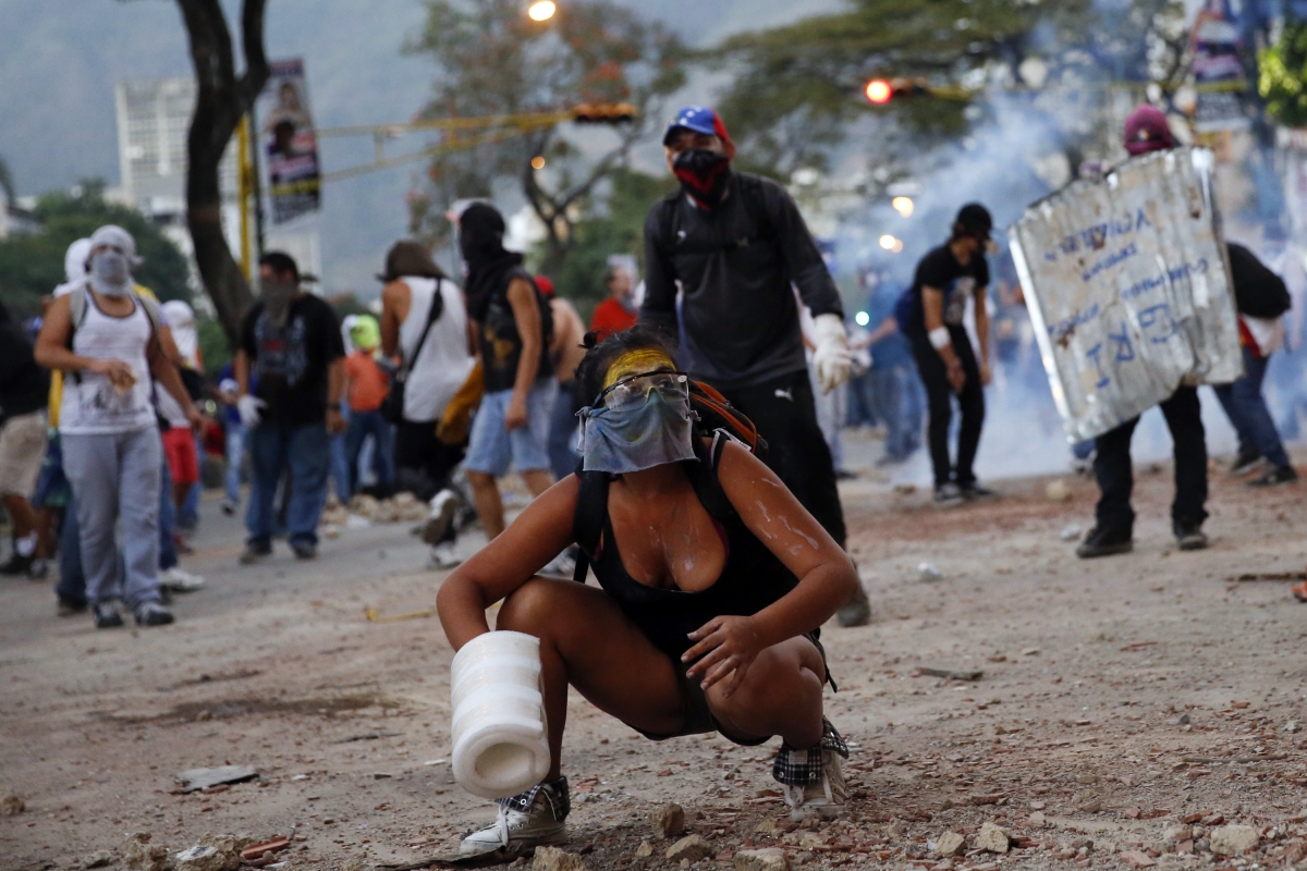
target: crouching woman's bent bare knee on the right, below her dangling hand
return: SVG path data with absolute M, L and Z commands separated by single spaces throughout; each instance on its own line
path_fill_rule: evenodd
M 744 683 L 729 696 L 729 679 L 708 688 L 708 708 L 723 731 L 736 738 L 780 735 L 791 747 L 821 740 L 822 683 L 826 669 L 808 639 L 775 644 L 749 666 Z

